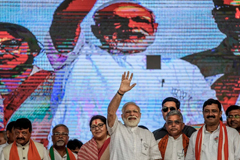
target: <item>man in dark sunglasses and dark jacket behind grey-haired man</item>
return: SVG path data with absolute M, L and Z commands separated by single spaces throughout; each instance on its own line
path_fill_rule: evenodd
M 164 120 L 166 120 L 166 115 L 168 114 L 168 112 L 170 112 L 172 110 L 181 111 L 180 110 L 180 101 L 173 97 L 167 97 L 162 102 L 162 115 L 163 115 Z M 163 138 L 168 133 L 165 125 L 166 124 L 164 124 L 164 126 L 162 128 L 159 128 L 153 132 L 154 137 L 157 141 L 159 141 L 161 138 Z M 191 126 L 187 126 L 187 125 L 185 125 L 182 130 L 182 132 L 187 137 L 191 137 L 192 133 L 195 131 L 196 131 L 195 128 L 193 128 Z

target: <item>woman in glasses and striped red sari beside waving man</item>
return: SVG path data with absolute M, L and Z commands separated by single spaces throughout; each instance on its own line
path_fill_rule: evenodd
M 95 115 L 91 118 L 89 126 L 93 138 L 81 147 L 78 160 L 109 160 L 110 137 L 107 132 L 106 118 Z

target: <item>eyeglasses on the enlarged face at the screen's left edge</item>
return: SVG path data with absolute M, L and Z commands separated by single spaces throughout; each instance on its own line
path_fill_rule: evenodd
M 17 50 L 21 46 L 22 41 L 18 39 L 11 39 L 0 42 L 0 48 L 4 50 Z

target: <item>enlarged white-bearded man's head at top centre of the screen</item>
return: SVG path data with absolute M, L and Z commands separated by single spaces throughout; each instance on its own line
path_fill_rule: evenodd
M 139 53 L 155 39 L 158 24 L 152 11 L 134 3 L 115 3 L 94 14 L 92 31 L 112 54 Z

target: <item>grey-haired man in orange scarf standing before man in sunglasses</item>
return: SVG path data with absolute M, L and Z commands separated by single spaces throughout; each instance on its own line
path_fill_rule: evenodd
M 182 132 L 184 126 L 181 112 L 178 110 L 168 112 L 166 115 L 168 134 L 158 143 L 163 160 L 184 160 L 186 157 L 189 138 Z

